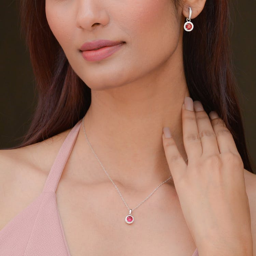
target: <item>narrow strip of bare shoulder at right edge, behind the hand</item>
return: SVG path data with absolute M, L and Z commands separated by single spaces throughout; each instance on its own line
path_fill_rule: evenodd
M 253 252 L 256 256 L 256 174 L 244 169 L 244 181 L 250 205 Z

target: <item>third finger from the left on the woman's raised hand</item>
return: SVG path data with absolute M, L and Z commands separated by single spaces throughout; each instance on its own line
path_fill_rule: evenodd
M 202 144 L 202 154 L 208 156 L 219 154 L 216 135 L 211 120 L 203 109 L 202 103 L 197 100 L 194 101 L 194 109 L 196 111 L 197 128 Z

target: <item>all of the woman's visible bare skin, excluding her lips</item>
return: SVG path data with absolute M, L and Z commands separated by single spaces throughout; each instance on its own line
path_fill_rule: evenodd
M 170 0 L 45 3 L 51 30 L 73 70 L 91 88 L 92 101 L 85 115 L 88 139 L 129 207 L 136 207 L 170 174 L 173 176 L 132 213 L 135 220 L 131 226 L 120 223 L 128 210 L 80 129 L 56 190 L 71 255 L 171 252 L 187 256 L 197 247 L 199 255 L 252 256 L 243 168 L 232 139 L 228 133 L 218 140 L 216 136 L 201 138 L 198 134 L 202 131 L 213 135 L 214 129 L 216 135 L 224 128 L 214 125 L 216 119 L 211 123 L 204 111 L 195 113 L 182 107 L 184 99 L 189 103 L 182 59 L 183 24 L 188 6 L 193 22 L 205 1 L 183 1 L 177 11 Z M 104 60 L 86 61 L 79 48 L 97 39 L 126 44 Z M 199 102 L 194 104 L 196 110 Z M 170 128 L 172 138 L 162 136 L 163 127 Z M 0 186 L 5 195 L 0 202 L 4 205 L 0 208 L 1 227 L 41 193 L 69 131 L 1 152 L 0 170 L 12 170 L 10 176 L 0 172 L 0 181 L 6 184 Z M 207 146 L 201 146 L 203 141 Z M 217 151 L 219 141 L 224 144 L 221 150 L 230 145 L 229 150 L 235 152 L 225 155 L 228 165 Z M 188 166 L 183 160 L 187 157 Z M 256 223 L 256 179 L 246 170 L 244 173 Z M 214 181 L 210 185 L 209 177 Z M 34 182 L 28 184 L 28 179 Z

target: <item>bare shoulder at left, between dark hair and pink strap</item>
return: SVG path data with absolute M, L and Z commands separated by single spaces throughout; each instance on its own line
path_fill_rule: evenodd
M 26 147 L 0 150 L 0 230 L 42 192 L 69 131 Z

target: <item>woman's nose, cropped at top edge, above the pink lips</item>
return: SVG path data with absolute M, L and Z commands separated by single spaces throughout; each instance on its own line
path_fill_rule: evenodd
M 91 30 L 93 26 L 105 26 L 109 23 L 109 15 L 101 0 L 78 0 L 76 6 L 76 27 Z

